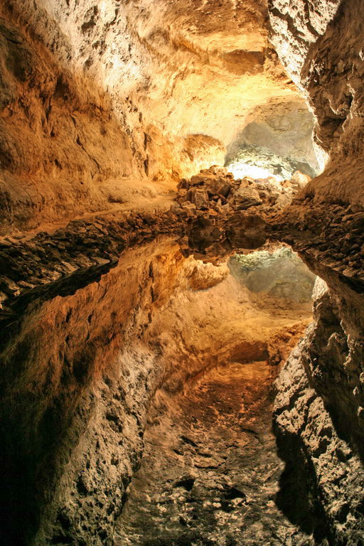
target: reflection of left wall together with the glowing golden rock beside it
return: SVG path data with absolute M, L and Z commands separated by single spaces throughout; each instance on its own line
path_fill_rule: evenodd
M 75 294 L 33 299 L 1 347 L 1 542 L 112 544 L 156 388 L 267 358 L 277 331 L 290 339 L 306 317 L 272 322 L 226 265 L 186 259 L 171 240 L 130 249 Z

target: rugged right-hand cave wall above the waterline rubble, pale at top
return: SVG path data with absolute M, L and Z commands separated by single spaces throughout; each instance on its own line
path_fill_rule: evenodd
M 363 17 L 355 0 L 269 2 L 272 41 L 306 92 L 316 141 L 331 158 L 306 188 L 315 200 L 363 208 Z

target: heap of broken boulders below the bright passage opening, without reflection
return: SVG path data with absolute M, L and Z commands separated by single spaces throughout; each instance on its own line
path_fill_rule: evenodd
M 296 171 L 291 181 L 278 182 L 274 176 L 234 179 L 226 168 L 211 166 L 178 183 L 178 203 L 188 210 L 215 210 L 224 215 L 232 210 L 259 207 L 259 213 L 281 210 L 291 203 L 309 177 Z

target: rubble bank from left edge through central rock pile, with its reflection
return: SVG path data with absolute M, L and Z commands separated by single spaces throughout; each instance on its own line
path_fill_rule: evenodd
M 185 252 L 224 256 L 265 242 L 269 213 L 290 203 L 298 183 L 274 178 L 235 180 L 212 166 L 183 179 L 176 203 L 163 213 L 119 213 L 73 220 L 31 240 L 0 240 L 0 321 L 33 299 L 73 294 L 117 264 L 125 248 L 157 235 L 185 235 Z M 182 245 L 183 246 L 183 245 Z M 184 248 L 184 246 L 183 246 Z

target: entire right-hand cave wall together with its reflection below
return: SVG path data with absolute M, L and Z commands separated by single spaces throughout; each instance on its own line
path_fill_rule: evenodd
M 327 286 L 317 287 L 314 323 L 277 382 L 274 416 L 282 488 L 294 491 L 291 506 L 278 500 L 292 518 L 301 511 L 317 544 L 363 542 L 363 9 L 351 0 L 269 2 L 272 41 L 326 154 L 323 173 L 280 218 Z

